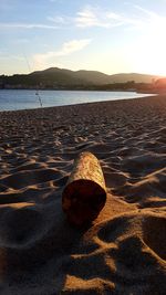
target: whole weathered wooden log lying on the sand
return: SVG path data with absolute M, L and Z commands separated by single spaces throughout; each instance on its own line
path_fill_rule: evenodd
M 62 208 L 68 220 L 75 225 L 92 222 L 106 201 L 102 168 L 91 152 L 82 152 L 62 193 Z

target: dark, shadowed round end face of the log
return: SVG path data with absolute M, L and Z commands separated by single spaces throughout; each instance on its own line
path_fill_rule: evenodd
M 79 179 L 70 182 L 62 194 L 68 220 L 77 226 L 91 223 L 106 201 L 106 191 L 96 182 Z

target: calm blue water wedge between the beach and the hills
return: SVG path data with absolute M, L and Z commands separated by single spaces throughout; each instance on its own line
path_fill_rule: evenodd
M 152 96 L 135 92 L 39 91 L 43 107 Z M 0 110 L 40 107 L 35 91 L 0 89 Z

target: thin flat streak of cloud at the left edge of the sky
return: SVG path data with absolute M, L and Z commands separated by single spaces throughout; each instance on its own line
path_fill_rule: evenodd
M 43 23 L 0 22 L 0 29 L 58 29 L 58 27 Z

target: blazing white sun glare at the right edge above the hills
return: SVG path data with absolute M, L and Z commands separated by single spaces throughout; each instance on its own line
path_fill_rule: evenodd
M 128 64 L 139 73 L 166 76 L 166 20 L 144 28 L 141 38 L 127 45 Z

